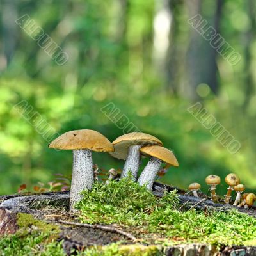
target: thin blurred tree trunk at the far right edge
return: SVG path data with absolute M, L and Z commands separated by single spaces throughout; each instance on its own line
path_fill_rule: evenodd
M 251 26 L 245 35 L 245 49 L 244 49 L 244 76 L 245 76 L 245 92 L 244 92 L 244 104 L 243 110 L 246 111 L 250 102 L 250 98 L 253 94 L 253 76 L 252 76 L 252 55 L 250 48 L 252 47 L 253 40 L 255 39 L 255 2 L 254 0 L 248 0 L 248 15 L 251 20 Z

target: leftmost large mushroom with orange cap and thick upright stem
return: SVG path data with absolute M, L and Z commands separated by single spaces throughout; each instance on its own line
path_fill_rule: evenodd
M 92 188 L 92 151 L 113 152 L 113 145 L 99 132 L 84 129 L 62 134 L 50 143 L 49 148 L 73 150 L 70 210 L 74 211 L 76 203 L 81 200 L 81 191 Z

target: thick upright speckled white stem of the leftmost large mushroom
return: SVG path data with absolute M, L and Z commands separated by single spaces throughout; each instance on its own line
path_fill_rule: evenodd
M 73 172 L 70 188 L 70 211 L 82 198 L 81 191 L 91 189 L 93 184 L 93 162 L 91 150 L 73 150 Z

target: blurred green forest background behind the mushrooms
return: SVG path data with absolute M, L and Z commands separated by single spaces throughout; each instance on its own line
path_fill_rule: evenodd
M 72 172 L 72 152 L 49 149 L 13 108 L 22 100 L 52 128 L 52 139 L 94 129 L 110 141 L 123 131 L 100 109 L 113 102 L 177 156 L 179 168 L 161 181 L 200 182 L 206 192 L 204 179 L 214 173 L 224 195 L 225 175 L 234 172 L 256 191 L 255 8 L 253 0 L 0 0 L 0 194 Z M 196 14 L 240 54 L 236 65 L 189 24 Z M 66 63 L 20 28 L 22 15 L 67 52 Z M 188 112 L 196 102 L 241 143 L 236 154 Z M 124 165 L 109 154 L 93 159 L 105 170 Z

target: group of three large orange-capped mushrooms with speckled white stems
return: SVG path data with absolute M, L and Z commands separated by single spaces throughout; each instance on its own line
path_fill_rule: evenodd
M 154 179 L 161 164 L 179 166 L 173 152 L 163 147 L 163 143 L 156 137 L 142 133 L 132 132 L 116 138 L 111 143 L 104 135 L 97 131 L 83 129 L 62 134 L 49 145 L 49 148 L 73 151 L 73 170 L 70 188 L 70 210 L 81 200 L 81 191 L 92 189 L 97 179 L 97 164 L 93 164 L 92 151 L 108 152 L 117 159 L 125 160 L 121 179 L 131 173 L 132 179 L 140 186 L 147 186 L 152 190 Z M 150 157 L 150 160 L 138 177 L 141 157 Z M 110 179 L 115 179 L 115 169 L 109 170 Z

